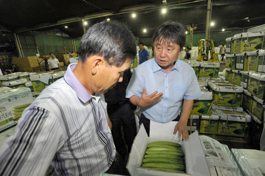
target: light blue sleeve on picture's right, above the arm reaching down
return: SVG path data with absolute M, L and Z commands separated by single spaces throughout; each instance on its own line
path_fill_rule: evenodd
M 201 96 L 201 89 L 197 81 L 197 77 L 195 72 L 192 70 L 188 78 L 187 90 L 183 96 L 183 99 L 194 100 L 196 98 L 200 98 Z

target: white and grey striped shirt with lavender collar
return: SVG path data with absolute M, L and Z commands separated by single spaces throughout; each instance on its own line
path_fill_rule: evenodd
M 45 175 L 54 163 L 59 175 L 100 175 L 116 149 L 103 94 L 88 94 L 70 64 L 24 110 L 15 135 L 0 150 L 0 175 Z

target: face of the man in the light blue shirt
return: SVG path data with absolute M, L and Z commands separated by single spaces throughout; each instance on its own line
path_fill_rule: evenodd
M 154 57 L 162 69 L 172 67 L 180 53 L 180 47 L 175 43 L 163 44 L 163 41 L 159 40 L 154 43 Z

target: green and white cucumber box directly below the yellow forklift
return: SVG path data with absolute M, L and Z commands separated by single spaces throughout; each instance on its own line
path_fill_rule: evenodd
M 201 62 L 199 77 L 218 78 L 219 62 Z

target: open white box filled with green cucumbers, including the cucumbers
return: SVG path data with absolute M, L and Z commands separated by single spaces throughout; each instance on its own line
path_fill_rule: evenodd
M 126 166 L 130 175 L 210 175 L 198 132 L 182 141 L 173 134 L 176 124 L 150 121 L 149 137 L 140 126 Z

